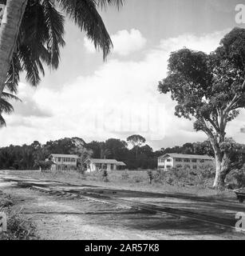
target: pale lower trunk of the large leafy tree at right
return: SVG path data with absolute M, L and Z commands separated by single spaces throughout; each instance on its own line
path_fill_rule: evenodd
M 224 187 L 225 178 L 230 170 L 229 159 L 227 158 L 227 155 L 224 154 L 222 157 L 221 154 L 215 154 L 215 166 L 216 166 L 216 172 L 215 172 L 215 182 L 213 186 L 218 189 L 218 188 Z

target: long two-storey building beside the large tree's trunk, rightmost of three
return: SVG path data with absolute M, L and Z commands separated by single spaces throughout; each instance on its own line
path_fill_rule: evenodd
M 188 166 L 190 169 L 196 170 L 201 166 L 211 166 L 213 158 L 207 155 L 195 154 L 164 154 L 158 158 L 158 169 L 171 170 L 172 168 L 181 168 Z

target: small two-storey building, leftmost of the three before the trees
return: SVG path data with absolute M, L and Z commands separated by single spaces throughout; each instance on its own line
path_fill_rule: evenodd
M 50 154 L 49 160 L 54 163 L 51 170 L 76 170 L 77 158 L 76 154 Z

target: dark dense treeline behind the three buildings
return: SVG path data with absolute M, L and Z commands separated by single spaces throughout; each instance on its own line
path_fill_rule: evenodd
M 134 146 L 129 149 L 129 144 Z M 105 142 L 93 141 L 85 143 L 82 138 L 61 138 L 56 141 L 46 142 L 43 145 L 35 141 L 30 145 L 10 145 L 0 148 L 0 169 L 37 169 L 37 162 L 49 158 L 49 154 L 77 154 L 77 152 L 91 158 L 113 158 L 123 161 L 127 164 L 129 170 L 156 169 L 157 158 L 166 153 L 213 155 L 211 146 L 207 141 L 185 143 L 183 146 L 174 146 L 153 151 L 145 143 L 145 140 L 144 143 L 140 143 L 136 141 L 132 142 L 131 140 L 125 142 L 117 138 L 109 138 Z

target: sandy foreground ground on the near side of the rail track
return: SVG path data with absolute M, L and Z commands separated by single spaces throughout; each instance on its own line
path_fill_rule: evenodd
M 11 194 L 14 208 L 34 222 L 41 239 L 245 239 L 244 234 L 188 218 L 57 197 L 1 180 L 0 190 Z

